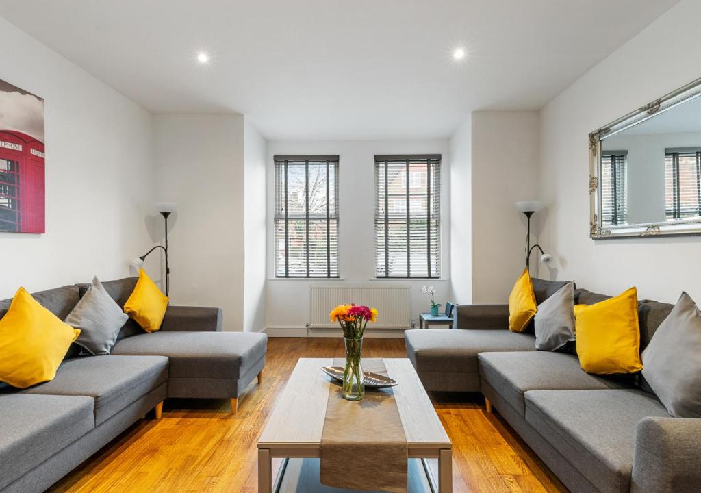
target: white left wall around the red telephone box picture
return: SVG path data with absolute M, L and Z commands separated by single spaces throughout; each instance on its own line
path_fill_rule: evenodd
M 0 234 L 0 298 L 127 276 L 151 246 L 151 114 L 1 18 L 0 45 L 0 79 L 46 100 L 46 234 Z

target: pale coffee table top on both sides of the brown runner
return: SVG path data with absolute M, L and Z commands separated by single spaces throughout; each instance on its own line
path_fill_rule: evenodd
M 450 449 L 448 435 L 411 361 L 406 358 L 383 358 L 383 361 L 389 377 L 399 382 L 392 390 L 410 457 L 428 457 L 423 452 Z M 297 361 L 258 441 L 259 448 L 320 447 L 329 386 L 336 385 L 321 367 L 332 363 L 333 358 L 300 358 Z

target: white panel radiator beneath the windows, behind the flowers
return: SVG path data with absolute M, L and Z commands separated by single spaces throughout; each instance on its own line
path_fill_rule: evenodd
M 409 329 L 411 328 L 411 292 L 409 286 L 311 286 L 309 308 L 310 329 L 336 328 L 331 323 L 329 311 L 339 304 L 372 306 L 379 315 L 376 323 L 368 324 L 368 329 Z

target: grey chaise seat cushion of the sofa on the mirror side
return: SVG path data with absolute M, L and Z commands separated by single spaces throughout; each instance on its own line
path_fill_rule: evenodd
M 477 373 L 484 351 L 536 351 L 532 335 L 508 330 L 413 329 L 404 332 L 418 373 Z

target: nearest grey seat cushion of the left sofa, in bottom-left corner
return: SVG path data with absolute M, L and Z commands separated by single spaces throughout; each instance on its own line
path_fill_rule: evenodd
M 95 428 L 83 396 L 0 396 L 0 489 Z

